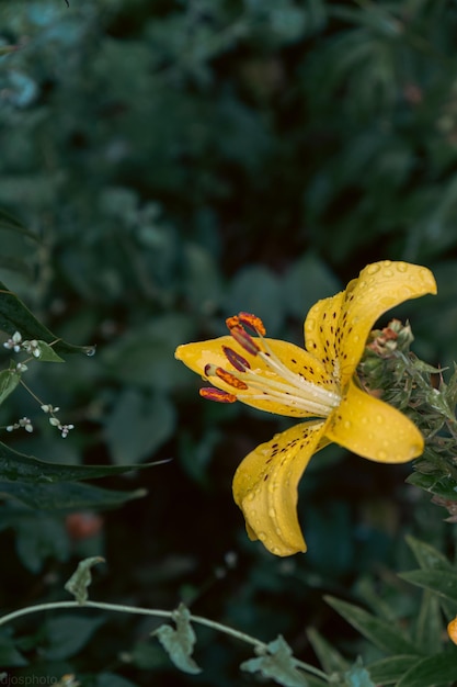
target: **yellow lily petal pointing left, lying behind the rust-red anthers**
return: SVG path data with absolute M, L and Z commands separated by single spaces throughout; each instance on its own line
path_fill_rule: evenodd
M 260 346 L 262 342 L 255 338 Z M 302 376 L 308 382 L 327 388 L 328 391 L 338 392 L 338 385 L 334 380 L 328 374 L 325 367 L 321 361 L 317 360 L 313 356 L 308 353 L 305 349 L 282 341 L 277 339 L 265 339 L 271 351 L 295 374 Z M 212 375 L 205 375 L 205 367 L 210 363 L 218 368 L 224 368 L 228 372 L 236 372 L 232 364 L 227 360 L 222 351 L 222 346 L 228 346 L 235 350 L 238 354 L 248 360 L 251 365 L 251 371 L 255 372 L 258 382 L 262 383 L 262 378 L 265 380 L 276 379 L 279 382 L 286 383 L 281 375 L 275 374 L 269 368 L 267 363 L 262 360 L 260 356 L 251 356 L 231 336 L 222 336 L 217 339 L 210 339 L 208 341 L 199 341 L 196 344 L 185 344 L 179 346 L 174 356 L 178 360 L 181 360 L 191 370 L 197 372 L 203 379 L 207 380 L 213 386 L 235 394 L 239 401 L 245 403 L 249 406 L 258 408 L 259 410 L 266 410 L 269 413 L 275 413 L 276 415 L 286 415 L 288 417 L 316 417 L 316 413 L 308 413 L 302 407 L 294 407 L 288 404 L 285 398 L 284 403 L 265 401 L 263 398 L 255 398 L 254 396 L 262 395 L 261 388 L 249 387 L 241 392 L 230 386 L 224 380 Z M 250 382 L 247 381 L 249 384 Z M 266 385 L 265 385 L 265 391 Z

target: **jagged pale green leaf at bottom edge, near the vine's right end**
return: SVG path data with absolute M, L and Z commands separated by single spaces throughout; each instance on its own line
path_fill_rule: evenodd
M 241 664 L 241 669 L 248 673 L 261 673 L 263 677 L 271 677 L 284 687 L 307 687 L 308 680 L 305 675 L 297 669 L 298 661 L 294 658 L 292 649 L 283 637 L 275 639 L 264 650 L 256 650 L 261 653 L 256 658 L 250 658 Z

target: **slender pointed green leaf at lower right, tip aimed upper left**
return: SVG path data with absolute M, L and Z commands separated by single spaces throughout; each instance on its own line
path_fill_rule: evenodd
M 347 622 L 381 651 L 395 654 L 418 653 L 414 644 L 412 644 L 412 642 L 410 642 L 391 622 L 379 620 L 366 610 L 358 608 L 358 606 L 347 604 L 347 601 L 342 601 L 341 599 L 335 599 L 330 596 L 324 598 L 332 608 L 347 620 Z

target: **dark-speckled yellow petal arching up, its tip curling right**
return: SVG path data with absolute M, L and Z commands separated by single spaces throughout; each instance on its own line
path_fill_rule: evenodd
M 426 293 L 436 293 L 436 283 L 424 267 L 390 260 L 368 264 L 345 291 L 311 307 L 305 322 L 306 348 L 325 362 L 344 387 L 376 320 L 403 301 Z

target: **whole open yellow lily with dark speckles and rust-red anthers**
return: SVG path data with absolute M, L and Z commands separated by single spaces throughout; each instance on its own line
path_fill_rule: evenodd
M 202 396 L 312 418 L 259 446 L 235 474 L 233 497 L 248 534 L 272 553 L 306 551 L 297 487 L 309 460 L 323 447 L 334 441 L 381 463 L 403 463 L 422 453 L 424 441 L 415 425 L 363 391 L 356 368 L 378 317 L 427 293 L 436 293 L 429 269 L 384 260 L 364 268 L 345 291 L 311 307 L 305 349 L 265 338 L 261 319 L 247 313 L 227 320 L 230 336 L 176 349 L 179 360 L 214 384 L 202 388 Z

